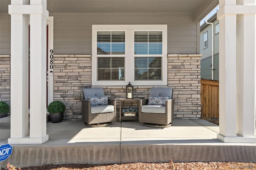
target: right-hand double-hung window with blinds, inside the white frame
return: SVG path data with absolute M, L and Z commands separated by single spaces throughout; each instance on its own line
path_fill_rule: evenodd
M 162 32 L 134 32 L 135 80 L 162 80 Z

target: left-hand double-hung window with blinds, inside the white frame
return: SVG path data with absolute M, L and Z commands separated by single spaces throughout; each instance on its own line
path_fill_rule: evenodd
M 97 80 L 124 80 L 125 32 L 97 32 Z

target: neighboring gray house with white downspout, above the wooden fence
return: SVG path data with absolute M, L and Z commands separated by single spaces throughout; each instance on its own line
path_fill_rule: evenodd
M 212 24 L 204 22 L 200 26 L 200 54 L 203 55 L 201 57 L 201 79 L 219 80 L 219 20 L 217 20 L 217 13 L 208 19 L 208 23 L 214 24 L 214 55 L 212 55 Z

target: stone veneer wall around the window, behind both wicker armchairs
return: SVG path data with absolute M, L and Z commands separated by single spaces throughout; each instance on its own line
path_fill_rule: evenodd
M 174 89 L 174 117 L 200 118 L 200 54 L 168 55 L 168 87 Z M 54 55 L 54 100 L 66 105 L 64 119 L 81 119 L 82 89 L 91 87 L 91 55 Z M 97 86 L 98 87 L 98 86 Z M 157 86 L 134 86 L 134 97 L 147 98 Z M 167 87 L 167 86 L 166 86 Z M 125 86 L 104 86 L 104 93 L 125 98 Z M 79 95 L 80 99 L 74 99 Z M 127 105 L 127 104 L 126 104 Z M 134 105 L 134 104 L 133 104 Z M 128 106 L 124 106 L 126 108 Z M 117 100 L 119 118 L 119 101 Z

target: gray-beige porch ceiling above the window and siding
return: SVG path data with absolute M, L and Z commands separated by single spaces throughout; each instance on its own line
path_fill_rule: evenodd
M 8 12 L 11 0 L 0 0 L 0 12 Z M 201 20 L 218 0 L 47 0 L 50 13 L 192 13 Z

